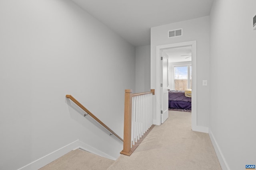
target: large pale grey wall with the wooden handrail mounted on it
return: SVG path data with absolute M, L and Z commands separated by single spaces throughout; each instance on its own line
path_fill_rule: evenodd
M 0 169 L 21 168 L 77 139 L 119 156 L 122 142 L 65 95 L 123 137 L 134 46 L 70 0 L 1 0 L 0 13 Z

